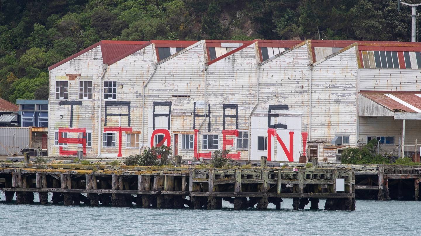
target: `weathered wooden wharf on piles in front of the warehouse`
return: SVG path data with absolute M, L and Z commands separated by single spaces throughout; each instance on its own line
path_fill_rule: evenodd
M 344 179 L 344 191 L 336 191 L 336 178 Z M 354 172 L 345 168 L 0 164 L 0 189 L 7 202 L 16 193 L 16 203 L 32 203 L 39 192 L 40 203 L 47 204 L 52 192 L 53 203 L 64 205 L 218 209 L 225 200 L 235 209 L 266 209 L 269 202 L 280 209 L 282 198 L 290 197 L 294 209 L 309 202 L 318 209 L 326 198 L 326 210 L 355 210 L 354 188 Z

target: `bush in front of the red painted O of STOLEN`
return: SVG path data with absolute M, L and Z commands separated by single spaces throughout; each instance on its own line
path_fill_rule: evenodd
M 145 149 L 142 154 L 130 155 L 124 165 L 162 166 L 171 162 L 171 147 L 165 145 Z

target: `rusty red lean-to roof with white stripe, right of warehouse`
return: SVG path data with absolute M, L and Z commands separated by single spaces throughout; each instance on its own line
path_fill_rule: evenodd
M 393 112 L 421 113 L 421 92 L 363 91 L 360 94 Z

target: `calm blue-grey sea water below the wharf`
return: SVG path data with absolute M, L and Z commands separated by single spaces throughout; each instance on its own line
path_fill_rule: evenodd
M 172 210 L 5 204 L 0 235 L 420 235 L 421 201 L 357 201 L 357 210 Z M 49 195 L 51 199 L 51 194 Z M 35 193 L 35 201 L 38 195 Z M 325 200 L 321 200 L 322 208 Z M 307 208 L 309 205 L 306 206 Z

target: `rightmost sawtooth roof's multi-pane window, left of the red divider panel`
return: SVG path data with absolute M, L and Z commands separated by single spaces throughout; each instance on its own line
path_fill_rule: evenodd
M 361 55 L 364 68 L 400 68 L 395 51 L 361 51 Z

